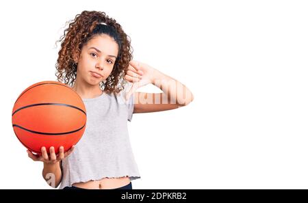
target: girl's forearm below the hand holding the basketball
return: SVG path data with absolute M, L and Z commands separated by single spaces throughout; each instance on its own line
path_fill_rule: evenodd
M 42 176 L 48 185 L 55 188 L 58 187 L 62 178 L 60 161 L 57 163 L 44 163 Z

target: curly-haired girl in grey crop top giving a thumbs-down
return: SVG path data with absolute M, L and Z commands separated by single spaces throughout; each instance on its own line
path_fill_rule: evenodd
M 61 183 L 60 189 L 132 189 L 131 180 L 140 174 L 127 120 L 131 121 L 133 113 L 188 105 L 192 93 L 155 68 L 132 61 L 129 36 L 104 12 L 81 12 L 59 41 L 55 75 L 84 101 L 86 130 L 66 153 L 60 147 L 55 154 L 51 147 L 47 154 L 42 147 L 41 155 L 28 150 L 29 157 L 44 163 L 42 176 L 52 187 Z M 164 93 L 136 92 L 149 83 Z

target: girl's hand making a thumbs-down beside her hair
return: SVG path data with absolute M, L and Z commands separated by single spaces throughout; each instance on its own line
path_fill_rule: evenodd
M 128 100 L 131 94 L 136 92 L 139 87 L 154 83 L 155 69 L 138 61 L 131 60 L 129 62 L 129 68 L 125 79 L 130 83 L 133 83 L 129 92 L 125 94 L 125 99 Z

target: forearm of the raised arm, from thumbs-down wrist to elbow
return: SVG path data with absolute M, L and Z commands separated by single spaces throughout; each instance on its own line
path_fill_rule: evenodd
M 159 70 L 153 71 L 152 83 L 168 96 L 170 103 L 185 106 L 194 99 L 188 87 Z

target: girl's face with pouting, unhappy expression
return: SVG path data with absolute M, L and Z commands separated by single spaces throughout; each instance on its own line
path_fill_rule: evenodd
M 113 38 L 106 34 L 95 36 L 81 49 L 76 81 L 99 85 L 109 77 L 117 55 L 118 44 Z

